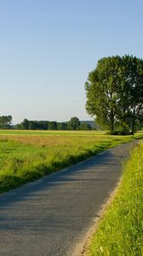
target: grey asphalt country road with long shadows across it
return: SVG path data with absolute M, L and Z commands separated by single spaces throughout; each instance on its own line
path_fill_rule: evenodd
M 75 248 L 115 189 L 136 143 L 0 195 L 0 255 L 80 255 Z

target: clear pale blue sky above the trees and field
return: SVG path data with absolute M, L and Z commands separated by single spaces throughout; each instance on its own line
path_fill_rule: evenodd
M 97 61 L 143 49 L 142 0 L 0 0 L 0 115 L 91 119 L 84 82 Z

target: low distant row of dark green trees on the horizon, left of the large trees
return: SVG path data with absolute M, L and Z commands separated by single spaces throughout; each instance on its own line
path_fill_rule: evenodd
M 69 122 L 33 121 L 24 119 L 20 124 L 14 125 L 17 130 L 58 130 L 58 131 L 90 131 L 93 129 L 87 122 L 80 122 L 77 117 L 72 117 Z

